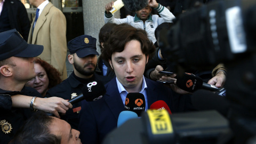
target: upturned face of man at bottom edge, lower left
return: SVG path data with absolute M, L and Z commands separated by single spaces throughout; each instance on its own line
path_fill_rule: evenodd
M 82 144 L 79 139 L 80 132 L 75 129 L 71 129 L 70 124 L 62 119 L 53 117 L 49 129 L 52 134 L 57 137 L 61 137 L 61 144 Z

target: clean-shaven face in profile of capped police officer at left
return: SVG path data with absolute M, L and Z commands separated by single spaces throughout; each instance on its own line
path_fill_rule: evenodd
M 15 66 L 13 68 L 13 77 L 17 81 L 29 81 L 36 76 L 34 69 L 35 58 L 19 58 L 11 57 L 10 58 Z

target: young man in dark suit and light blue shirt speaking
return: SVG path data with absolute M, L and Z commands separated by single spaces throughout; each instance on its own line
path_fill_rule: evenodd
M 105 85 L 106 94 L 101 99 L 82 102 L 78 130 L 83 143 L 101 143 L 106 134 L 117 127 L 118 116 L 125 110 L 126 95 L 131 92 L 145 96 L 146 110 L 153 102 L 164 100 L 175 113 L 179 94 L 143 76 L 154 51 L 145 30 L 123 23 L 111 32 L 101 54 L 116 77 Z M 173 87 L 179 91 L 175 85 Z

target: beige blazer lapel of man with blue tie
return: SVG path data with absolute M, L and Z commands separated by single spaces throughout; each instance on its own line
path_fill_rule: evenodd
M 46 21 L 46 15 L 49 13 L 50 11 L 50 8 L 52 7 L 52 3 L 49 2 L 49 4 L 47 4 L 42 13 L 39 15 L 37 21 L 36 21 L 36 25 L 35 25 L 35 28 L 34 28 L 34 31 L 33 31 L 33 37 L 32 37 L 32 42 L 31 44 L 35 44 L 36 42 L 36 37 L 37 37 L 37 34 L 38 34 L 38 31 L 39 29 L 43 26 L 44 22 Z M 35 18 L 33 20 L 33 23 L 35 22 Z M 33 24 L 34 25 L 34 24 Z M 33 27 L 32 27 L 33 28 Z

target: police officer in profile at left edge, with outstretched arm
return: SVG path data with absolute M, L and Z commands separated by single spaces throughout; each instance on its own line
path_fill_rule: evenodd
M 42 52 L 42 45 L 28 44 L 15 29 L 0 33 L 0 143 L 8 143 L 36 109 L 54 112 L 53 107 L 59 110 L 72 107 L 61 98 L 38 98 L 41 94 L 25 87 L 35 77 L 34 57 Z M 62 103 L 61 100 L 66 104 L 54 104 Z M 55 112 L 58 114 L 59 110 Z

